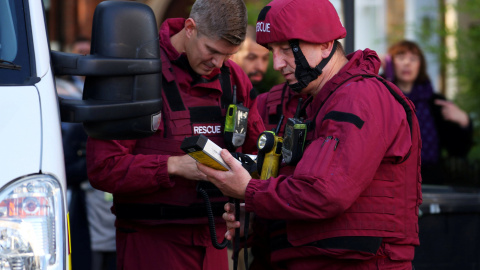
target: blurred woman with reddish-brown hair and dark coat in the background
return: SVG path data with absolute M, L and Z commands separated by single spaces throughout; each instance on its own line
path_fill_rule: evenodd
M 392 45 L 384 59 L 384 77 L 412 100 L 422 138 L 422 179 L 425 184 L 445 184 L 442 153 L 465 158 L 473 144 L 468 114 L 433 89 L 425 56 L 418 44 L 403 40 Z

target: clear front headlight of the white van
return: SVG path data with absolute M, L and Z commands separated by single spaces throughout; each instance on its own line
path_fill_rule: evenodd
M 28 176 L 0 190 L 0 269 L 64 268 L 62 194 L 49 175 Z

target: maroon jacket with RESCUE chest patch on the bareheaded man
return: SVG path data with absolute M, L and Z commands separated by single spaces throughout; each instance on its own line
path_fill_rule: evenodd
M 221 147 L 225 146 L 223 125 L 226 109 L 221 105 L 220 70 L 214 70 L 209 76 L 192 78 L 186 55 L 177 52 L 170 42 L 170 37 L 183 28 L 184 21 L 169 19 L 160 29 L 162 56 L 168 57 L 168 60 L 165 57 L 162 60 L 164 86 L 165 83 L 176 84 L 179 96 L 172 99 L 171 96 L 167 97 L 166 93 L 171 94 L 170 89 L 162 91 L 164 104 L 159 130 L 153 136 L 140 140 L 88 139 L 87 165 L 90 182 L 93 187 L 113 194 L 113 212 L 117 214 L 117 224 L 121 219 L 117 213 L 119 204 L 141 204 L 136 207 L 138 211 L 147 205 L 202 204 L 203 200 L 196 191 L 198 182 L 170 177 L 167 160 L 170 156 L 185 154 L 180 145 L 188 136 L 204 134 Z M 252 85 L 233 61 L 226 61 L 224 66 L 230 74 L 230 85 L 237 86 L 237 101 L 243 102 L 250 110 L 246 142 L 238 151 L 253 153 L 256 151 L 256 140 L 265 129 L 258 115 L 256 100 L 250 98 Z M 183 105 L 183 108 L 180 105 Z M 143 219 L 139 217 L 130 221 L 141 221 L 142 224 L 205 224 L 207 221 L 206 217 L 181 220 Z

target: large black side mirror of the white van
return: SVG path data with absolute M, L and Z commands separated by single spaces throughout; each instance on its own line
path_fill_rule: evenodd
M 103 1 L 95 9 L 91 53 L 53 52 L 56 75 L 85 75 L 83 100 L 60 100 L 64 122 L 91 137 L 153 135 L 162 110 L 162 64 L 155 15 L 145 4 Z

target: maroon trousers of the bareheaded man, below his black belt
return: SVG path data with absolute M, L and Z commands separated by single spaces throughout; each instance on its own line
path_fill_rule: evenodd
M 216 224 L 222 241 L 225 224 Z M 118 270 L 228 270 L 227 249 L 212 246 L 207 225 L 117 227 Z

